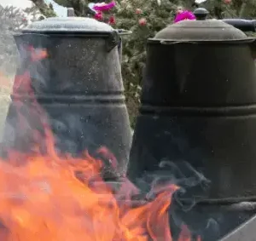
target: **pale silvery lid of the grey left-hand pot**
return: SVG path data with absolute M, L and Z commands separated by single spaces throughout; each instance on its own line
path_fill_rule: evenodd
M 83 17 L 54 17 L 35 21 L 22 32 L 109 34 L 113 28 L 106 23 Z

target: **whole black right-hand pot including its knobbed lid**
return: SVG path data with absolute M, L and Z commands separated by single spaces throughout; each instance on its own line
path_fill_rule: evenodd
M 255 39 L 195 14 L 148 39 L 127 175 L 145 192 L 160 180 L 180 186 L 172 224 L 217 240 L 255 213 Z

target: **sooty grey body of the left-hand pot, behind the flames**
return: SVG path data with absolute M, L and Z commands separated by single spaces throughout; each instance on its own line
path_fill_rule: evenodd
M 47 58 L 28 60 L 26 46 L 46 49 Z M 17 76 L 29 72 L 30 85 L 39 105 L 48 115 L 59 152 L 80 155 L 105 146 L 117 159 L 115 169 L 104 177 L 124 175 L 131 146 L 131 128 L 123 95 L 118 47 L 106 51 L 106 37 L 68 34 L 24 34 L 20 37 L 21 64 Z M 28 151 L 37 120 L 27 108 L 20 129 L 15 101 L 32 102 L 27 89 L 15 79 L 13 102 L 5 128 L 5 145 Z M 22 85 L 23 84 L 23 85 Z M 21 110 L 22 111 L 22 110 Z M 10 135 L 11 133 L 11 135 Z

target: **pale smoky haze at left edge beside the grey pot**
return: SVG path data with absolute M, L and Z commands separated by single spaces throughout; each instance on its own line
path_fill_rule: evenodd
M 19 65 L 18 53 L 13 35 L 28 23 L 27 14 L 12 6 L 0 5 L 0 139 L 3 138 L 3 126 L 8 112 L 9 94 L 13 85 L 16 68 Z M 8 124 L 9 125 L 9 124 Z M 9 129 L 9 127 L 8 127 Z M 13 131 L 10 129 L 10 137 Z

